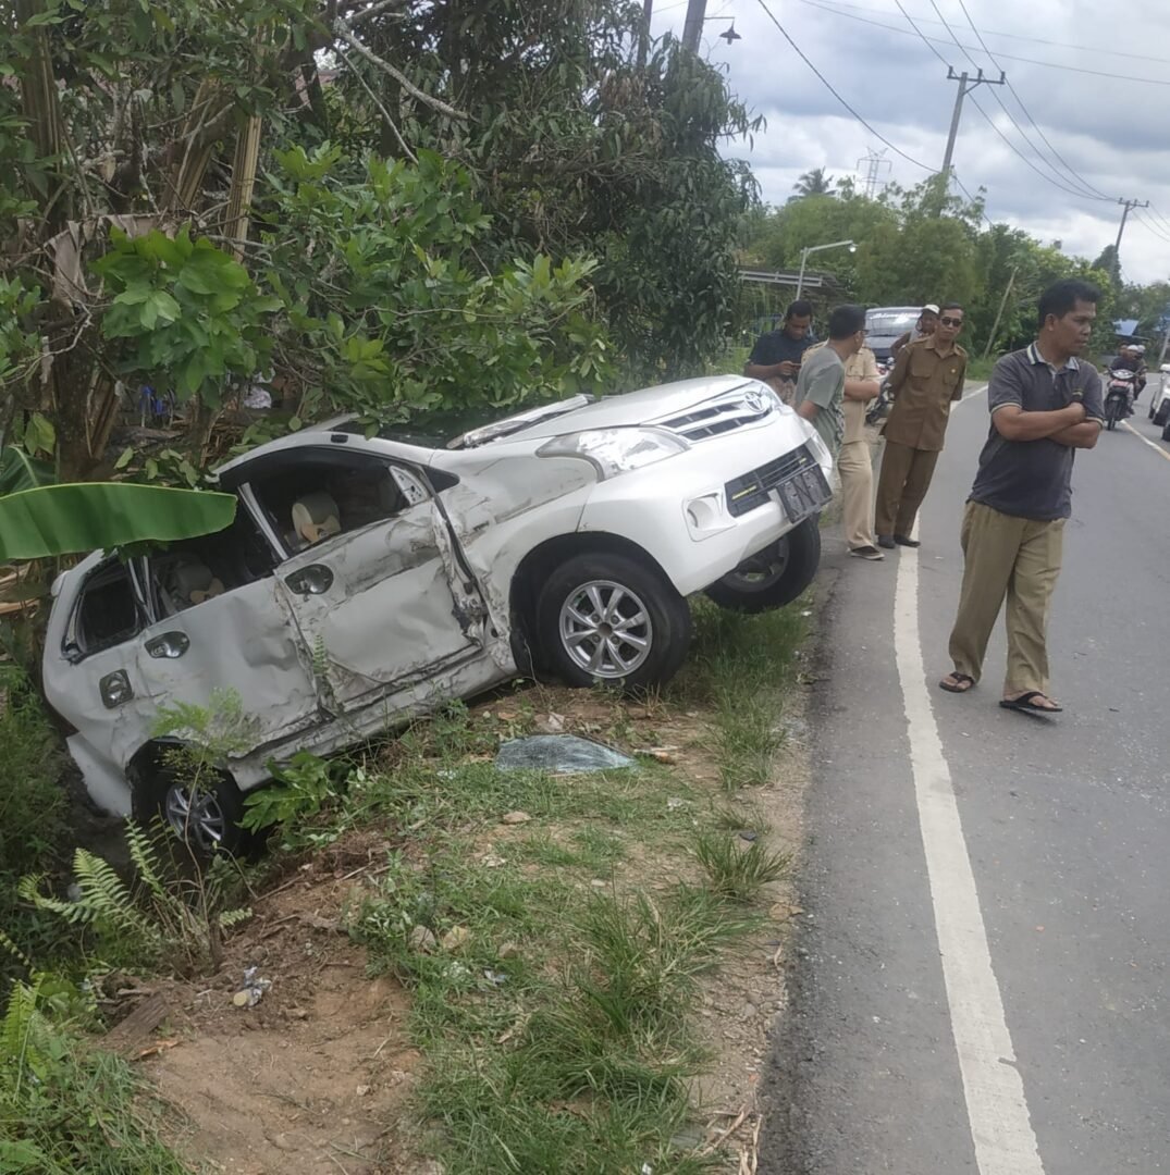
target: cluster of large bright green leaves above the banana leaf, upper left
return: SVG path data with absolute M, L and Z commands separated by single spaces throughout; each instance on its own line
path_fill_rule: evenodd
M 94 270 L 112 294 L 101 329 L 125 340 L 119 370 L 173 388 L 180 402 L 222 403 L 229 378 L 261 370 L 270 341 L 263 325 L 280 301 L 261 297 L 248 271 L 183 224 L 129 237 L 111 231 Z

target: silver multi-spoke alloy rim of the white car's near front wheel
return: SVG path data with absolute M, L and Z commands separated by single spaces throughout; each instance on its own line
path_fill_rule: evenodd
M 654 642 L 646 604 L 613 579 L 594 579 L 571 592 L 561 606 L 560 631 L 574 664 L 608 680 L 635 672 Z

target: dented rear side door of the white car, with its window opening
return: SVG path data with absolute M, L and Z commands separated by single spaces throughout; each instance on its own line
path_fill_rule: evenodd
M 308 650 L 273 573 L 278 560 L 243 503 L 227 530 L 148 559 L 153 623 L 138 638 L 139 673 L 158 706 L 209 709 L 235 754 L 322 719 Z M 239 718 L 227 691 L 242 703 Z

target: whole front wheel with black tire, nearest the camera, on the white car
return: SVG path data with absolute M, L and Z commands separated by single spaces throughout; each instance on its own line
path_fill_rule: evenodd
M 661 572 L 630 556 L 576 555 L 541 588 L 536 638 L 541 664 L 566 684 L 636 693 L 678 672 L 690 609 Z

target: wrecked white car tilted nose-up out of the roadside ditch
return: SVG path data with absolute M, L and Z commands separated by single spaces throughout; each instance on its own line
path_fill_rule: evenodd
M 667 682 L 688 596 L 760 611 L 809 584 L 830 466 L 737 376 L 579 396 L 449 442 L 316 425 L 219 470 L 226 530 L 65 572 L 45 693 L 99 806 L 230 847 L 242 794 L 297 750 L 519 673 Z M 249 745 L 193 793 L 154 731 L 215 690 L 242 699 Z

